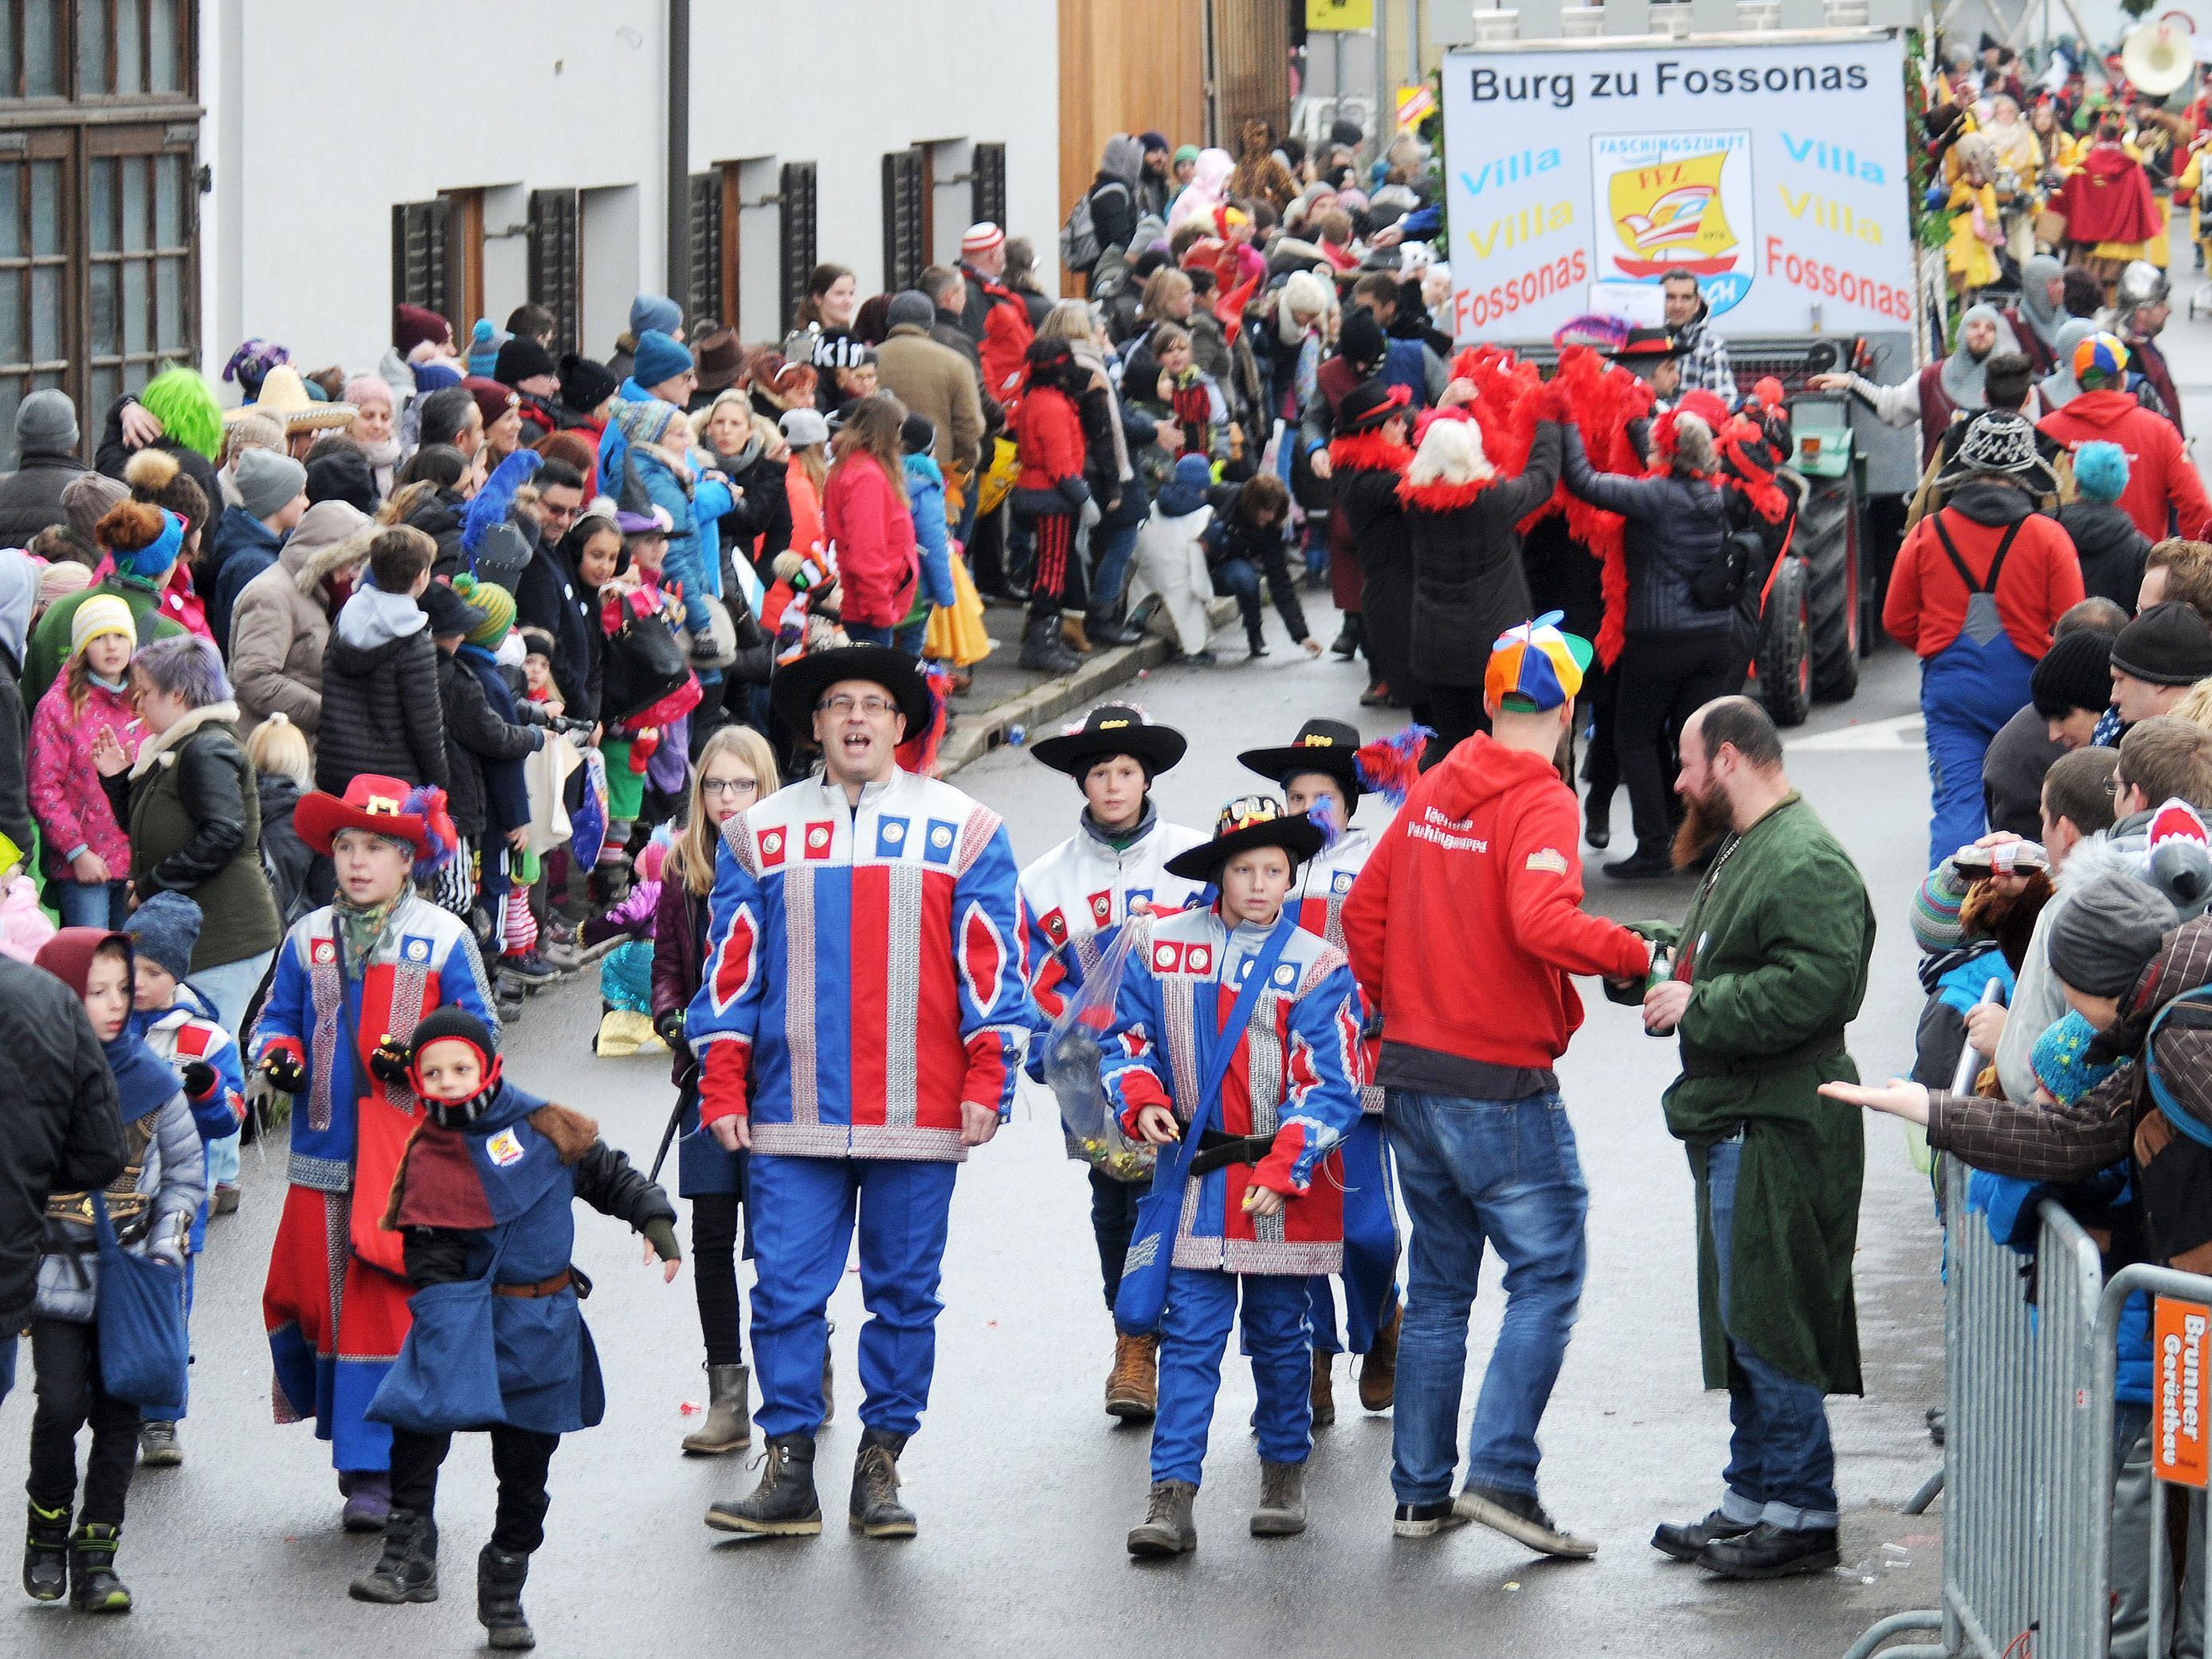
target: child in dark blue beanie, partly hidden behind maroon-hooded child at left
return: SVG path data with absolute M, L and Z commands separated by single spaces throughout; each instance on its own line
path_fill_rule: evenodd
M 246 1121 L 246 1071 L 239 1064 L 239 1044 L 223 1031 L 215 1004 L 184 982 L 192 967 L 192 947 L 199 942 L 199 902 L 177 891 L 159 891 L 131 911 L 131 920 L 124 922 L 135 971 L 131 1031 L 177 1073 L 199 1139 L 219 1141 L 237 1135 Z M 210 1203 L 223 1208 L 212 1170 L 208 1179 L 208 1201 L 192 1217 L 190 1254 L 184 1259 L 186 1312 L 192 1307 L 199 1252 L 208 1241 L 208 1208 Z M 237 1188 L 230 1188 L 230 1208 L 237 1208 Z M 177 1444 L 181 1416 L 184 1400 L 177 1400 L 177 1409 L 168 1416 L 161 1409 L 146 1411 L 146 1420 L 139 1422 L 142 1464 L 170 1469 L 184 1462 L 184 1447 Z

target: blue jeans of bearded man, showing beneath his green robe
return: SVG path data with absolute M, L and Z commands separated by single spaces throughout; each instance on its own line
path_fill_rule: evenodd
M 1743 1141 L 1721 1141 L 1705 1152 L 1705 1201 L 1712 1206 L 1712 1250 L 1721 1270 L 1721 1318 L 1728 1318 L 1730 1245 L 1736 1221 L 1736 1168 Z M 1728 1352 L 1745 1387 L 1728 1389 L 1728 1493 L 1721 1513 L 1739 1526 L 1767 1522 L 1785 1533 L 1836 1526 L 1836 1449 L 1827 1438 L 1827 1402 L 1752 1354 L 1734 1336 Z

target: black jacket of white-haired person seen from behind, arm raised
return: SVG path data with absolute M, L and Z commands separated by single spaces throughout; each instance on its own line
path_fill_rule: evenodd
M 1528 622 L 1528 577 L 1517 524 L 1559 482 L 1559 427 L 1544 420 L 1520 478 L 1480 487 L 1407 484 L 1413 542 L 1413 677 L 1425 686 L 1480 686 L 1491 644 Z

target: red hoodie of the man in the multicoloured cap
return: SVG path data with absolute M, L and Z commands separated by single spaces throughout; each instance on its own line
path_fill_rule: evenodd
M 1544 757 L 1478 732 L 1422 774 L 1343 911 L 1383 1040 L 1491 1066 L 1557 1064 L 1582 1024 L 1568 975 L 1650 967 L 1641 938 L 1584 914 L 1579 849 L 1575 792 Z

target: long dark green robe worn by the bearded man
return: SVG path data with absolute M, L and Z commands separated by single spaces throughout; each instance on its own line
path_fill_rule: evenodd
M 1705 1387 L 1728 1387 L 1734 1369 L 1705 1150 L 1741 1126 L 1728 1332 L 1827 1394 L 1863 1394 L 1851 1254 L 1865 1133 L 1858 1110 L 1818 1093 L 1825 1082 L 1858 1082 L 1843 1048 L 1874 953 L 1858 865 L 1792 792 L 1723 847 L 1681 929 L 1644 931 L 1679 947 L 1677 971 L 1692 984 L 1666 1121 L 1697 1177 Z

